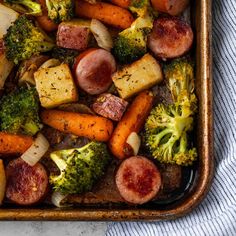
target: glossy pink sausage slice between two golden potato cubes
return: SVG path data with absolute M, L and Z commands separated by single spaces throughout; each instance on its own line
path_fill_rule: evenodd
M 115 59 L 104 49 L 89 49 L 75 60 L 74 72 L 78 85 L 91 95 L 105 92 L 112 83 L 111 75 L 115 71 Z

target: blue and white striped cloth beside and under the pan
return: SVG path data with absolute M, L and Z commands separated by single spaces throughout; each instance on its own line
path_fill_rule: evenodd
M 210 193 L 186 217 L 111 223 L 107 236 L 236 235 L 236 0 L 213 0 L 213 92 L 216 172 Z

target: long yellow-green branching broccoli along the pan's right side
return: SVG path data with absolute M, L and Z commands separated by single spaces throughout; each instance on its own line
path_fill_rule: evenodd
M 164 74 L 174 104 L 159 104 L 151 111 L 145 124 L 146 145 L 160 162 L 191 165 L 197 158 L 188 140 L 197 110 L 193 65 L 185 58 L 176 59 Z

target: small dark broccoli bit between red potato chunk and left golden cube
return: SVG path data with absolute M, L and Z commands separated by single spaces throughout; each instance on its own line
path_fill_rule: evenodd
M 74 59 L 79 55 L 79 52 L 73 49 L 55 47 L 52 50 L 52 57 L 59 61 L 69 64 L 71 67 L 74 64 Z

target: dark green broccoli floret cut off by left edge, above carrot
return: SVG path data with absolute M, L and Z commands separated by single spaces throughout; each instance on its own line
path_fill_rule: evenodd
M 20 88 L 0 101 L 0 130 L 34 135 L 41 128 L 39 98 L 35 88 Z

